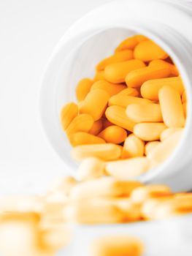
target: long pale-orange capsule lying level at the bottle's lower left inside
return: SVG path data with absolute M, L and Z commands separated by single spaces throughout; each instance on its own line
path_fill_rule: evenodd
M 120 154 L 120 147 L 112 143 L 81 145 L 72 149 L 72 158 L 75 160 L 82 160 L 87 157 L 99 157 L 100 159 L 109 161 L 118 159 Z

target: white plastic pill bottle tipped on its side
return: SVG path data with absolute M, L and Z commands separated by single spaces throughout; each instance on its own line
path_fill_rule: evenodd
M 126 37 L 144 34 L 160 45 L 180 71 L 188 95 L 188 118 L 182 140 L 158 167 L 137 177 L 168 184 L 174 191 L 192 188 L 192 3 L 180 0 L 118 0 L 93 10 L 66 31 L 42 76 L 40 119 L 54 151 L 74 175 L 77 163 L 59 120 L 62 105 L 75 101 L 82 78 L 93 78 L 96 64 L 110 56 Z

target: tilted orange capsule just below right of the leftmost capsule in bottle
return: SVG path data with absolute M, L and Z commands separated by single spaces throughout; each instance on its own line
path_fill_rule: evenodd
M 75 132 L 88 132 L 93 127 L 93 117 L 88 114 L 76 116 L 66 129 L 66 134 L 72 135 Z

